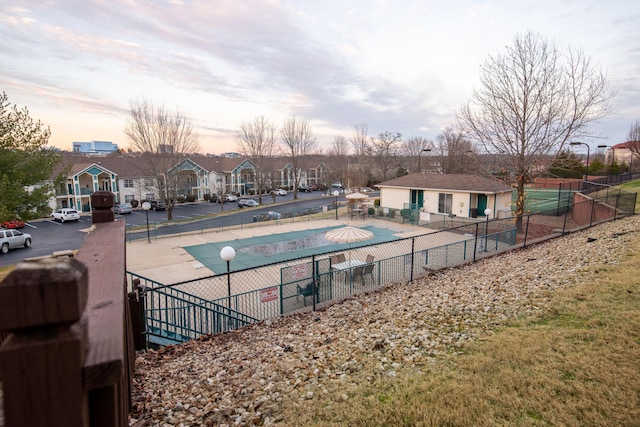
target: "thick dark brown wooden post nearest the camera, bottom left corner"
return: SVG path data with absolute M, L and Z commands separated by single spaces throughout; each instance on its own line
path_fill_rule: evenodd
M 82 368 L 88 272 L 74 258 L 23 262 L 0 283 L 0 349 L 7 426 L 88 426 Z

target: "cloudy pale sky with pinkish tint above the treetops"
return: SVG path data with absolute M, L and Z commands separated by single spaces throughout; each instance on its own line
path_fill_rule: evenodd
M 132 100 L 178 110 L 202 153 L 237 151 L 243 122 L 309 119 L 318 146 L 366 124 L 435 140 L 480 66 L 533 31 L 582 49 L 616 91 L 593 130 L 640 119 L 637 0 L 0 0 L 0 91 L 50 145 L 129 142 Z

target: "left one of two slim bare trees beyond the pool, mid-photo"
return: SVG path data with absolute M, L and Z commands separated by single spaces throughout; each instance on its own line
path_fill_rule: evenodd
M 238 131 L 238 150 L 251 159 L 255 171 L 255 184 L 259 202 L 270 177 L 269 161 L 276 154 L 276 126 L 264 116 L 257 116 L 250 122 L 240 124 Z M 272 189 L 273 190 L 273 189 Z

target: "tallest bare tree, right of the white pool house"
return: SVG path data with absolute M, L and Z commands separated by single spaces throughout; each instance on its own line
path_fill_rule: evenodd
M 516 176 L 516 224 L 522 228 L 524 185 L 532 167 L 571 139 L 593 136 L 613 92 L 606 75 L 580 50 L 561 52 L 540 35 L 516 35 L 504 54 L 480 68 L 480 88 L 463 106 L 459 124 L 487 152 L 508 155 Z

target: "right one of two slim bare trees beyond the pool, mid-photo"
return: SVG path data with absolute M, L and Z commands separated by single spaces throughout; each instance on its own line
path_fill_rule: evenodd
M 293 174 L 293 198 L 298 198 L 298 184 L 302 174 L 302 160 L 310 154 L 316 144 L 309 119 L 299 119 L 291 116 L 285 119 L 280 129 L 280 138 L 285 147 L 285 153 L 291 162 Z

